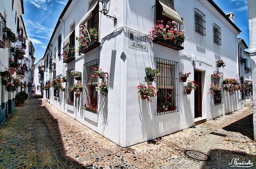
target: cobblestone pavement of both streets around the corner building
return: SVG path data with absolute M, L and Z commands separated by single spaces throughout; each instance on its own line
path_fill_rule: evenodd
M 34 96 L 0 127 L 0 168 L 230 168 L 232 158 L 255 167 L 251 104 L 124 149 Z M 210 160 L 188 158 L 184 150 L 201 151 Z

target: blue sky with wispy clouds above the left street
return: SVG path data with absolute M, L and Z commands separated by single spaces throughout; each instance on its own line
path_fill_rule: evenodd
M 35 63 L 46 51 L 60 13 L 68 0 L 24 0 L 23 20 L 35 48 Z

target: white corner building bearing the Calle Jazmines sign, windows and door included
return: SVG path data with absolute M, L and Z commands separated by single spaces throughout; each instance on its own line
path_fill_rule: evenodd
M 55 107 L 117 145 L 128 147 L 244 106 L 239 91 L 210 94 L 211 74 L 222 75 L 219 87 L 223 78 L 239 78 L 237 35 L 241 32 L 213 1 L 111 1 L 108 15 L 116 20 L 98 12 L 100 5 L 98 1 L 69 1 L 59 17 L 44 55 L 45 84 L 67 77 L 65 92 L 44 90 L 44 98 Z M 164 23 L 175 20 L 179 29 L 184 27 L 188 37 L 184 45 L 148 42 L 152 27 L 162 19 Z M 75 37 L 80 37 L 81 24 L 94 28 L 99 38 L 91 36 L 97 42 L 92 41 L 78 55 Z M 75 60 L 63 63 L 63 48 L 73 46 Z M 226 63 L 224 68 L 216 66 L 219 60 Z M 102 80 L 90 78 L 95 67 L 108 73 L 108 94 L 95 89 Z M 152 102 L 142 99 L 137 89 L 145 81 L 146 67 L 161 73 L 152 84 L 158 88 Z M 68 92 L 79 82 L 70 75 L 72 70 L 82 73 L 83 91 L 77 98 Z M 180 81 L 180 72 L 191 72 L 188 80 L 199 85 L 190 95 L 184 92 L 188 81 Z M 172 108 L 162 111 L 165 98 Z

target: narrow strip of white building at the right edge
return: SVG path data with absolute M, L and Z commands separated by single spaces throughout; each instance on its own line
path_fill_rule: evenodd
M 248 17 L 249 17 L 249 31 L 250 31 L 250 57 L 252 68 L 252 84 L 253 89 L 256 89 L 256 1 L 247 0 L 248 5 Z M 256 97 L 256 90 L 253 90 L 253 97 Z M 256 140 L 256 100 L 253 100 L 253 131 L 254 140 Z

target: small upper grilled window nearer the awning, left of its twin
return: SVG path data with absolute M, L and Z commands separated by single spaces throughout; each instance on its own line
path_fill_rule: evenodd
M 195 31 L 205 36 L 206 35 L 205 14 L 203 14 L 197 8 L 194 9 L 194 12 L 195 12 Z

